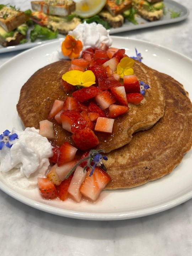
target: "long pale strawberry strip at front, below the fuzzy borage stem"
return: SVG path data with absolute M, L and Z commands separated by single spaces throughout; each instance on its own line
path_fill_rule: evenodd
M 78 203 L 81 201 L 82 197 L 80 186 L 84 182 L 86 175 L 87 171 L 84 171 L 81 166 L 78 166 L 73 174 L 73 178 L 71 179 L 68 188 L 69 195 Z

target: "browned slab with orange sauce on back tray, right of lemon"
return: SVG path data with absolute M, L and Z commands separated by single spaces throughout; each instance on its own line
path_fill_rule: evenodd
M 132 2 L 130 0 L 119 0 L 117 4 L 117 0 L 107 0 L 106 9 L 110 12 L 112 16 L 117 16 L 122 14 L 124 11 L 129 9 L 132 6 Z

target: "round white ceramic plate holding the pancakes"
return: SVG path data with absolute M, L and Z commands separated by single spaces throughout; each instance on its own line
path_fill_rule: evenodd
M 192 98 L 192 60 L 169 49 L 147 42 L 112 37 L 113 46 L 125 48 L 129 56 L 135 56 L 135 47 L 142 53 L 143 63 L 171 75 L 181 82 Z M 0 133 L 12 127 L 22 129 L 16 104 L 22 85 L 39 68 L 49 64 L 51 54 L 60 42 L 51 42 L 16 55 L 0 67 Z M 129 219 L 149 215 L 177 206 L 192 198 L 192 150 L 175 170 L 153 182 L 127 190 L 103 191 L 96 203 L 81 201 L 47 201 L 38 190 L 22 191 L 6 184 L 0 175 L 0 189 L 17 200 L 45 212 L 92 220 Z

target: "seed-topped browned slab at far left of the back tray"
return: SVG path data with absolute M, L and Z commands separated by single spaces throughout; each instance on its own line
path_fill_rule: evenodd
M 24 12 L 15 8 L 4 6 L 0 9 L 0 26 L 6 31 L 11 32 L 27 20 Z

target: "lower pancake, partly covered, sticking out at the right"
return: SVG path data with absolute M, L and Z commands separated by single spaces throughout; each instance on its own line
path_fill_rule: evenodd
M 131 188 L 169 174 L 192 146 L 192 104 L 183 86 L 155 72 L 165 95 L 164 116 L 129 144 L 107 154 L 111 176 L 107 189 Z

